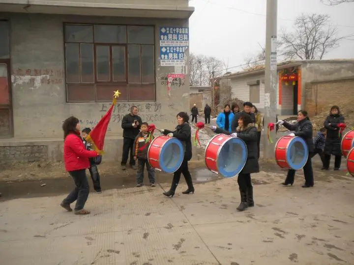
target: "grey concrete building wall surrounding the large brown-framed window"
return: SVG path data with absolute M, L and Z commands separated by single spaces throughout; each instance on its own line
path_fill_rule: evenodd
M 81 120 L 82 127 L 93 127 L 110 103 L 66 103 L 63 23 L 100 23 L 124 25 L 155 25 L 156 102 L 124 102 L 115 107 L 107 135 L 120 136 L 121 118 L 129 107 L 137 105 L 143 121 L 158 128 L 173 129 L 176 114 L 189 110 L 188 74 L 184 85 L 172 87 L 168 96 L 167 74 L 175 67 L 160 66 L 159 27 L 188 27 L 187 20 L 149 20 L 113 17 L 57 16 L 40 14 L 0 13 L 11 23 L 11 69 L 14 111 L 14 137 L 41 140 L 61 139 L 62 121 L 70 115 Z M 188 56 L 188 51 L 186 53 Z M 34 72 L 41 70 L 42 77 Z M 48 72 L 50 76 L 48 83 Z M 55 157 L 55 156 L 54 156 Z

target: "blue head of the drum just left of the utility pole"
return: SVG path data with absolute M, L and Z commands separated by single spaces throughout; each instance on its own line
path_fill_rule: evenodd
M 240 138 L 230 138 L 219 149 L 216 166 L 224 178 L 236 176 L 247 160 L 247 147 Z

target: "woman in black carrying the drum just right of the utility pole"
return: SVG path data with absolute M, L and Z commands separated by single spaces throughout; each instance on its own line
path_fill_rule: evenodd
M 308 117 L 306 110 L 300 110 L 297 113 L 297 122 L 295 124 L 290 124 L 286 121 L 278 121 L 279 124 L 283 125 L 289 131 L 295 131 L 290 133 L 290 136 L 299 136 L 305 140 L 308 146 L 309 155 L 306 161 L 306 164 L 303 167 L 304 176 L 305 176 L 305 184 L 302 187 L 313 187 L 314 185 L 314 177 L 313 177 L 313 170 L 312 170 L 312 161 L 311 158 L 312 153 L 314 152 L 314 144 L 312 140 L 312 123 Z M 294 169 L 288 170 L 287 178 L 283 185 L 293 185 L 295 179 L 295 172 Z

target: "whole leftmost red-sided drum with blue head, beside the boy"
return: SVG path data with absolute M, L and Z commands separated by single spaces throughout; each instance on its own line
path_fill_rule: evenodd
M 182 164 L 184 149 L 181 141 L 174 137 L 160 135 L 148 147 L 148 162 L 151 167 L 173 173 Z

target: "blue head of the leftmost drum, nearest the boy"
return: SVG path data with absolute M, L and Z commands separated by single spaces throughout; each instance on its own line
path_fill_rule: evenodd
M 159 164 L 161 170 L 173 173 L 182 164 L 184 150 L 182 143 L 177 138 L 171 138 L 161 148 Z

